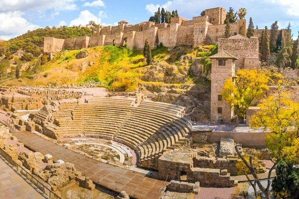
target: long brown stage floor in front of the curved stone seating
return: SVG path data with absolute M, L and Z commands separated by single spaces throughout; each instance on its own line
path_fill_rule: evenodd
M 31 150 L 51 154 L 54 161 L 61 159 L 73 163 L 78 171 L 89 177 L 95 184 L 116 192 L 127 191 L 132 198 L 160 199 L 168 185 L 167 182 L 148 178 L 145 174 L 105 164 L 78 154 L 28 131 L 15 132 L 13 135 Z

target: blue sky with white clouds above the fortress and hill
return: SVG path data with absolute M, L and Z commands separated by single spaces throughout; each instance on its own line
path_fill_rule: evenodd
M 278 20 L 280 28 L 291 22 L 293 38 L 299 31 L 298 0 L 0 0 L 0 39 L 7 40 L 39 27 L 80 25 L 90 20 L 102 25 L 122 19 L 136 24 L 149 20 L 157 9 L 177 9 L 180 16 L 192 19 L 207 8 L 240 7 L 254 25 L 264 28 Z

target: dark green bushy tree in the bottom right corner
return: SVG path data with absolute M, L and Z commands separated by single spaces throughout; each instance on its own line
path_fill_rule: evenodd
M 299 193 L 299 168 L 290 161 L 281 161 L 276 168 L 272 190 L 276 198 L 297 199 Z

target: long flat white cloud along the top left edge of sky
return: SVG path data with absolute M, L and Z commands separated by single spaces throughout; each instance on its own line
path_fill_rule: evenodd
M 74 10 L 77 9 L 75 1 L 76 0 L 0 0 L 0 11 Z

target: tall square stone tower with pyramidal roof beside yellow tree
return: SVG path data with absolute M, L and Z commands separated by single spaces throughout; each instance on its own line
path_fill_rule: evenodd
M 226 51 L 210 56 L 212 59 L 211 72 L 211 112 L 210 120 L 216 122 L 231 122 L 234 111 L 231 104 L 223 101 L 220 92 L 225 81 L 235 77 L 236 57 Z

